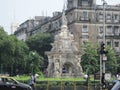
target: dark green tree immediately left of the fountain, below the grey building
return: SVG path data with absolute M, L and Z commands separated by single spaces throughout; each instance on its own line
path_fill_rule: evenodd
M 48 61 L 45 51 L 50 51 L 52 46 L 50 43 L 53 42 L 53 36 L 49 33 L 38 33 L 31 36 L 26 40 L 27 45 L 31 51 L 36 51 L 44 58 L 43 68 L 47 67 Z

